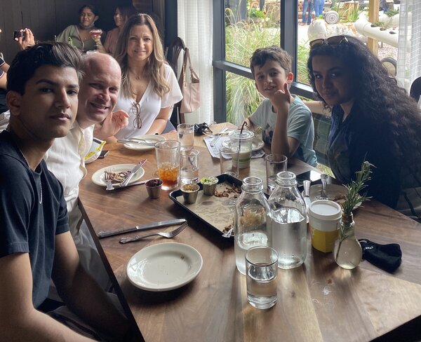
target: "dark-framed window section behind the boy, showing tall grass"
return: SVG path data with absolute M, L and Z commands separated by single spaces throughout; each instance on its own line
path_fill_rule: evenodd
M 297 46 L 298 0 L 214 0 L 213 15 L 215 121 L 238 124 L 262 100 L 249 69 L 256 48 L 280 45 L 293 56 L 295 78 L 307 79 L 302 61 L 308 51 Z M 300 60 L 298 53 L 304 56 Z M 291 91 L 312 95 L 309 86 L 296 82 Z

